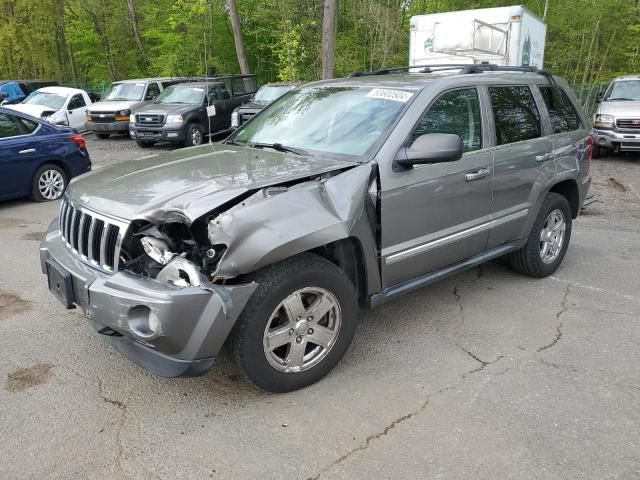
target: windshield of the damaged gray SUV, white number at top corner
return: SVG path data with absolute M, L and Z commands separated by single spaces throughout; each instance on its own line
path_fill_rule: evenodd
M 231 139 L 362 156 L 382 140 L 412 97 L 412 92 L 386 88 L 304 88 L 267 107 Z

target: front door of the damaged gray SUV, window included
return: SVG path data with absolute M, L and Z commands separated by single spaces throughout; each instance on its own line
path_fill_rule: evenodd
M 408 138 L 459 135 L 455 162 L 394 172 L 381 185 L 383 287 L 482 253 L 491 214 L 493 154 L 483 149 L 482 110 L 475 87 L 447 91 L 426 109 Z

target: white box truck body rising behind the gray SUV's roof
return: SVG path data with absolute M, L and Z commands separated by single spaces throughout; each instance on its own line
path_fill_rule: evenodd
M 542 68 L 547 25 L 522 5 L 411 17 L 409 65 Z

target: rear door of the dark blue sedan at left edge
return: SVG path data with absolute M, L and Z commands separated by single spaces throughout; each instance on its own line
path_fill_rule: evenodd
M 26 195 L 35 167 L 44 158 L 35 133 L 40 124 L 0 113 L 0 198 Z

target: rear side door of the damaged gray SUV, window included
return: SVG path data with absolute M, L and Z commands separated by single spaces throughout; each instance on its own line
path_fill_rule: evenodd
M 545 178 L 555 175 L 553 143 L 544 137 L 531 86 L 488 85 L 493 113 L 494 177 L 488 248 L 526 236 Z

